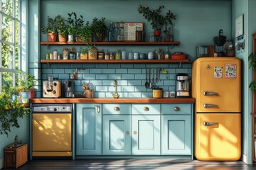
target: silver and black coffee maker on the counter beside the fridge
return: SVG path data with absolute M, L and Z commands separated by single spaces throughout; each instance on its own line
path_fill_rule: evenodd
M 176 97 L 189 97 L 188 74 L 181 73 L 176 75 Z

